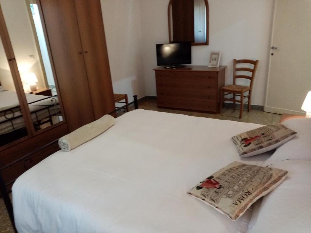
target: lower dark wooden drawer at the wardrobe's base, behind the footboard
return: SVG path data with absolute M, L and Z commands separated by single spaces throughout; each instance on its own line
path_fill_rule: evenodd
M 41 151 L 22 158 L 20 161 L 17 161 L 10 166 L 3 168 L 2 176 L 4 182 L 6 184 L 14 182 L 25 171 L 35 166 L 37 163 L 58 150 L 60 150 L 58 147 L 58 142 L 55 142 L 43 148 Z

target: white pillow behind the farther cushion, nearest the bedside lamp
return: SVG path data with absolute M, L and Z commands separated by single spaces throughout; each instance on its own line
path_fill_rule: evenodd
M 311 161 L 311 118 L 291 119 L 282 124 L 295 130 L 296 137 L 277 148 L 265 164 L 269 165 L 285 159 Z

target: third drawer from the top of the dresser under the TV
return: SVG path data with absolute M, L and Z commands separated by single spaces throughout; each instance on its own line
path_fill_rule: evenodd
M 169 90 L 160 87 L 157 88 L 157 97 L 211 102 L 217 101 L 216 92 Z

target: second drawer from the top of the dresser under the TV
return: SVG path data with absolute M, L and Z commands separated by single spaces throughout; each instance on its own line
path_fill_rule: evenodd
M 216 92 L 217 83 L 212 82 L 187 82 L 174 80 L 156 80 L 156 88 L 183 91 L 205 91 Z

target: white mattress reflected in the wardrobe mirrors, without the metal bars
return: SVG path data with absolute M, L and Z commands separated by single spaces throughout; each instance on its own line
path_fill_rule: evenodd
M 48 105 L 53 104 L 53 102 L 51 101 L 52 98 L 46 99 L 47 96 L 35 95 L 35 94 L 29 94 L 29 93 L 25 93 L 25 95 L 26 95 L 26 99 L 27 99 L 28 103 L 32 103 L 34 101 L 37 101 L 36 103 L 32 103 L 29 105 L 30 112 L 40 110 L 40 109 L 42 109 Z M 18 107 L 20 105 L 18 98 L 17 98 L 17 94 L 15 91 L 1 91 L 0 92 L 0 99 L 1 99 L 0 111 L 4 111 L 4 110 L 12 108 L 12 107 Z M 44 99 L 44 100 L 39 101 L 40 99 Z M 54 98 L 54 99 L 58 103 L 58 98 Z M 43 120 L 44 118 L 49 117 L 50 114 L 53 115 L 54 113 L 58 112 L 59 108 L 60 108 L 59 105 L 56 105 L 56 109 L 54 107 L 49 108 L 50 112 L 47 109 L 45 109 L 45 110 L 41 110 L 41 111 L 37 112 L 37 115 L 35 113 L 32 113 L 31 118 L 32 118 L 33 122 L 36 122 L 36 120 L 37 120 L 36 117 L 38 117 L 39 120 Z M 9 112 L 8 112 L 8 114 L 9 114 Z M 14 112 L 14 117 L 18 117 L 18 116 L 22 116 L 21 111 Z M 12 115 L 9 114 L 8 117 L 12 117 Z M 6 121 L 6 120 L 7 120 L 7 118 L 5 118 L 4 116 L 2 116 L 2 117 L 0 116 L 0 135 L 13 131 L 11 121 L 1 123 L 3 121 Z M 16 118 L 16 119 L 12 120 L 12 122 L 14 124 L 15 130 L 25 127 L 25 122 L 24 122 L 23 117 Z

